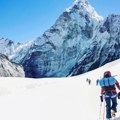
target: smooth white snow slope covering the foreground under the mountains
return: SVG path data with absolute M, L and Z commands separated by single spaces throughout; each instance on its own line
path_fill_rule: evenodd
M 106 70 L 120 80 L 120 60 L 76 77 L 0 78 L 0 120 L 102 120 L 96 79 Z

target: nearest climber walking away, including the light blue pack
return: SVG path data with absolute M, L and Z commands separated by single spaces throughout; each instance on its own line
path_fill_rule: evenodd
M 117 91 L 116 87 L 120 90 L 119 82 L 111 76 L 110 71 L 104 72 L 104 77 L 99 80 L 101 86 L 101 102 L 103 101 L 103 96 L 106 101 L 106 118 L 111 120 L 112 117 L 116 116 L 117 112 Z M 120 93 L 118 94 L 120 95 Z M 118 96 L 119 98 L 120 96 Z M 111 105 L 112 103 L 112 105 Z

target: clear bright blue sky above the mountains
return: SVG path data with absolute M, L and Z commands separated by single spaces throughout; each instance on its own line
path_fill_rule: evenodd
M 41 36 L 74 0 L 0 0 L 0 37 L 26 42 Z M 99 15 L 120 14 L 120 0 L 89 0 Z

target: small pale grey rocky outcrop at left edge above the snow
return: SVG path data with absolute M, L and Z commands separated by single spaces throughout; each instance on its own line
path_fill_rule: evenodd
M 0 77 L 25 77 L 23 67 L 11 63 L 7 56 L 0 54 Z

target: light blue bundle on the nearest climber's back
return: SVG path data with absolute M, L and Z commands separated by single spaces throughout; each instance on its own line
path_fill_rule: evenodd
M 116 79 L 114 77 L 108 77 L 99 80 L 99 85 L 101 87 L 114 85 L 115 83 L 116 83 Z

